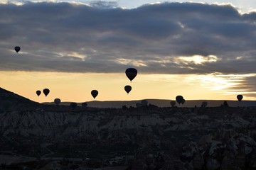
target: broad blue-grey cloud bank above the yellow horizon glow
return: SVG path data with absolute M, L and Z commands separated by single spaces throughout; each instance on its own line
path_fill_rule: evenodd
M 255 21 L 256 13 L 216 4 L 0 4 L 0 69 L 251 74 Z

